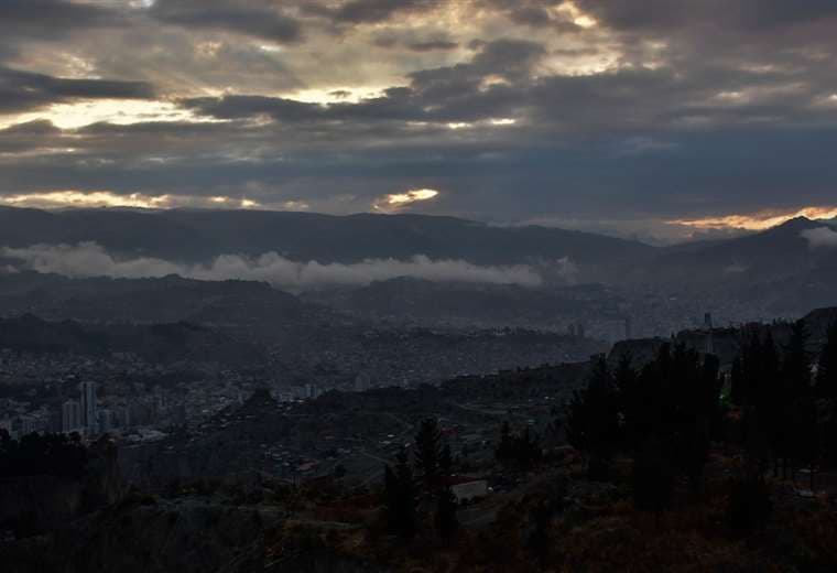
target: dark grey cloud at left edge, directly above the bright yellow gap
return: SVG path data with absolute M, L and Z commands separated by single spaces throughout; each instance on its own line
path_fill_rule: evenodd
M 67 79 L 0 67 L 0 113 L 36 109 L 74 99 L 145 99 L 154 97 L 142 82 Z

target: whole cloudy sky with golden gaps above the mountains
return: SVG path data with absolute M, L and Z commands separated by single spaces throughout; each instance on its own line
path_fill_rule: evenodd
M 837 216 L 833 0 L 0 0 L 0 205 Z

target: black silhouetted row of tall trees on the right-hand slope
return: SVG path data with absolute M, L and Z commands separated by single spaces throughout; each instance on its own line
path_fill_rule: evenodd
M 776 345 L 769 326 L 740 332 L 729 372 L 714 355 L 664 344 L 634 368 L 630 356 L 611 368 L 593 365 L 587 388 L 566 414 L 567 439 L 583 453 L 588 477 L 607 479 L 617 454 L 633 458 L 633 499 L 657 516 L 677 480 L 699 494 L 713 442 L 740 446 L 746 463 L 732 484 L 730 519 L 747 527 L 770 500 L 765 477 L 837 462 L 837 324 L 818 354 L 803 321 Z

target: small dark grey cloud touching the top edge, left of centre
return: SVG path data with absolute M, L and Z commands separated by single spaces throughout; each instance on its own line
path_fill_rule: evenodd
M 243 0 L 157 0 L 150 14 L 170 24 L 226 30 L 274 42 L 298 42 L 300 22 L 280 10 L 281 3 Z

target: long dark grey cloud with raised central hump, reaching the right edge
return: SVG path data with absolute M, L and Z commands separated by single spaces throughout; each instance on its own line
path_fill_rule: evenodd
M 532 79 L 531 69 L 546 54 L 535 42 L 500 40 L 479 46 L 471 62 L 424 69 L 411 85 L 385 90 L 360 102 L 319 105 L 264 96 L 197 98 L 184 104 L 221 119 L 269 116 L 282 123 L 380 121 L 463 122 L 525 113 L 553 136 L 598 137 L 631 130 L 659 131 L 763 122 L 834 122 L 834 109 L 816 107 L 827 83 L 816 85 L 797 74 L 730 71 L 693 66 L 686 75 L 667 67 L 624 68 L 594 75 Z M 487 77 L 506 82 L 485 86 Z M 789 88 L 790 86 L 790 88 Z M 752 90 L 751 101 L 732 96 Z

